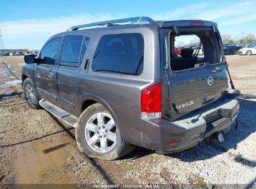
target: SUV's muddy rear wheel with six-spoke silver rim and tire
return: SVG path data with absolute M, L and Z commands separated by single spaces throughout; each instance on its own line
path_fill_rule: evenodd
M 75 129 L 78 148 L 88 157 L 115 160 L 126 154 L 114 119 L 102 104 L 89 106 L 81 114 Z M 121 148 L 118 148 L 120 147 Z M 130 151 L 129 151 L 130 152 Z

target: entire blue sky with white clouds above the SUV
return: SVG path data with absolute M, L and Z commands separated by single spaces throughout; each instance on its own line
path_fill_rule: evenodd
M 154 20 L 204 19 L 222 34 L 256 35 L 256 1 L 0 1 L 0 29 L 6 48 L 39 49 L 72 25 L 149 16 Z

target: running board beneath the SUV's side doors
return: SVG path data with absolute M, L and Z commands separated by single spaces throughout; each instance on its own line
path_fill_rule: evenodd
M 45 99 L 41 99 L 39 101 L 39 104 L 40 104 L 40 106 L 42 106 L 42 108 L 49 111 L 49 113 L 51 113 L 55 117 L 62 119 L 62 121 L 67 122 L 67 124 L 70 124 L 70 126 L 76 127 L 76 123 L 78 121 L 77 117 L 73 116 L 70 113 L 67 113 L 63 109 L 58 108 L 54 104 L 49 103 Z

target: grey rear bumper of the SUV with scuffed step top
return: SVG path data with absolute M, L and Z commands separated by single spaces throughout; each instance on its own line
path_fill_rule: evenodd
M 237 99 L 238 94 L 229 94 L 219 103 L 174 122 L 163 118 L 143 120 L 142 145 L 161 154 L 170 154 L 197 145 L 216 132 L 225 134 L 239 113 Z M 171 141 L 179 142 L 169 145 Z

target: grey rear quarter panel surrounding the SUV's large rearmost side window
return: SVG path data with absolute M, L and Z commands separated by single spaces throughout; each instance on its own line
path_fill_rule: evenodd
M 141 91 L 148 86 L 160 83 L 160 52 L 159 34 L 154 25 L 124 26 L 122 29 L 108 30 L 95 34 L 93 44 L 88 49 L 90 62 L 93 62 L 93 54 L 98 40 L 102 35 L 139 33 L 143 35 L 145 42 L 143 73 L 138 76 L 122 75 L 116 73 L 102 73 L 91 70 L 81 70 L 79 101 L 95 98 L 95 101 L 105 105 L 115 119 L 124 141 L 135 145 L 141 145 Z

